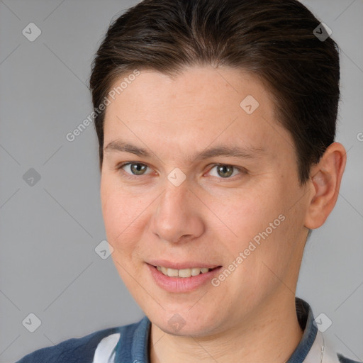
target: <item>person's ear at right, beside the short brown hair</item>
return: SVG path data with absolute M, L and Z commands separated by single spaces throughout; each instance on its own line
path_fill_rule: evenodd
M 333 143 L 325 150 L 318 164 L 311 167 L 311 196 L 306 211 L 305 226 L 319 228 L 328 218 L 339 195 L 340 181 L 347 162 L 347 152 L 340 143 Z

